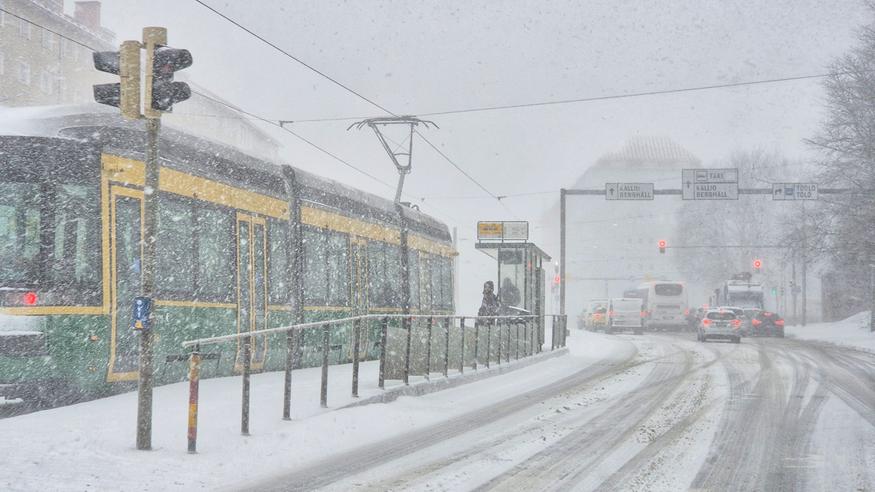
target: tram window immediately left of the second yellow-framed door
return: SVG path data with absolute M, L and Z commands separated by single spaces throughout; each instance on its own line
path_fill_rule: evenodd
M 198 299 L 231 301 L 234 296 L 234 219 L 227 210 L 198 209 Z

